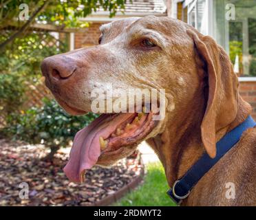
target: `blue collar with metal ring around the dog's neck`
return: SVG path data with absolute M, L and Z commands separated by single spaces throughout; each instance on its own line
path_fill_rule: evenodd
M 256 126 L 256 122 L 251 116 L 248 116 L 242 124 L 239 124 L 235 129 L 226 133 L 226 135 L 224 135 L 224 137 L 222 137 L 216 144 L 216 157 L 212 159 L 207 153 L 204 153 L 198 162 L 196 162 L 181 179 L 175 181 L 173 188 L 167 192 L 171 199 L 178 204 L 182 202 L 182 199 L 186 199 L 193 186 L 195 186 L 204 174 L 207 173 L 213 165 L 239 141 L 242 133 L 254 126 Z

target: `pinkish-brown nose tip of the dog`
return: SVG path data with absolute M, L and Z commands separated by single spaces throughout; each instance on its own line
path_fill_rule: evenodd
M 50 56 L 41 63 L 41 71 L 45 77 L 63 80 L 76 72 L 76 65 L 69 58 Z

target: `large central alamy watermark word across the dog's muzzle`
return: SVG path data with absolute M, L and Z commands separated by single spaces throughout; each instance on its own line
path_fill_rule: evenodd
M 153 113 L 153 120 L 165 116 L 165 89 L 113 89 L 112 84 L 91 92 L 94 113 Z

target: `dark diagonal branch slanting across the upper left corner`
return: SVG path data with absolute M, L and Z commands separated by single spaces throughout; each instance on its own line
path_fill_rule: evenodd
M 43 8 L 45 8 L 45 6 L 49 3 L 49 1 L 45 1 L 43 3 L 43 5 L 41 5 L 30 17 L 30 19 L 28 19 L 28 21 L 21 27 L 20 30 L 18 30 L 16 33 L 12 34 L 12 36 L 10 36 L 9 39 L 7 39 L 6 41 L 4 41 L 3 43 L 0 44 L 0 51 L 3 50 L 6 45 L 10 42 L 12 42 L 15 38 L 17 38 L 26 28 L 28 28 L 28 26 L 30 25 L 30 23 L 32 23 L 32 21 L 34 20 L 34 18 L 36 17 L 37 14 L 39 14 L 39 12 L 41 12 L 41 10 L 43 10 Z

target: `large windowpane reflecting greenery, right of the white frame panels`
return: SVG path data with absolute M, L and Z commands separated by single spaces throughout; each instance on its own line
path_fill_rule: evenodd
M 235 17 L 227 19 L 231 6 Z M 229 53 L 235 72 L 256 76 L 256 1 L 217 0 L 213 10 L 215 39 Z

